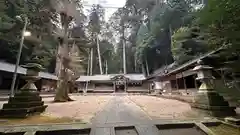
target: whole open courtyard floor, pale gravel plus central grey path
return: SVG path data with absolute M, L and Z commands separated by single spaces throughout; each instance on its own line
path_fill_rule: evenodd
M 81 122 L 84 124 L 146 123 L 150 120 L 188 120 L 202 118 L 187 103 L 146 95 L 73 95 L 75 101 L 52 103 L 40 117 L 21 121 L 24 124 Z M 1 105 L 4 102 L 1 102 Z M 45 119 L 50 119 L 46 122 Z M 51 120 L 53 119 L 53 120 Z M 43 121 L 42 121 L 43 120 Z M 6 122 L 6 121 L 5 121 Z M 14 122 L 10 122 L 14 124 Z M 19 121 L 16 122 L 19 124 Z

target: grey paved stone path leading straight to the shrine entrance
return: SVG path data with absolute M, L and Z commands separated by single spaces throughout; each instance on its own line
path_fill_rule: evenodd
M 93 124 L 146 123 L 150 118 L 127 96 L 115 96 L 92 120 Z

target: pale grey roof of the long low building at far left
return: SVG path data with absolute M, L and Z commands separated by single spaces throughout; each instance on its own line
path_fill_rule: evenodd
M 13 73 L 14 69 L 15 69 L 14 64 L 0 61 L 0 70 L 1 71 Z M 19 66 L 17 73 L 25 75 L 27 73 L 27 69 Z M 57 76 L 47 73 L 47 72 L 39 72 L 39 77 L 44 78 L 44 79 L 58 80 Z

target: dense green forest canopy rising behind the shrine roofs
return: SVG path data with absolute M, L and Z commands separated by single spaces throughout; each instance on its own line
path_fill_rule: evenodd
M 25 14 L 30 22 L 28 30 L 42 42 L 41 49 L 30 39 L 24 42 L 21 64 L 37 54 L 44 67 L 54 68 L 51 63 L 55 60 L 58 40 L 52 32 L 60 22 L 57 10 L 61 8 L 54 8 L 53 1 L 48 0 L 25 2 L 0 0 L 0 58 L 15 62 L 23 27 L 16 16 Z M 105 9 L 96 4 L 92 5 L 88 15 L 82 11 L 71 12 L 78 16 L 71 24 L 74 26 L 72 38 L 81 39 L 77 45 L 85 59 L 79 64 L 84 65 L 86 71 L 90 59 L 90 50 L 86 46 L 93 47 L 94 74 L 100 73 L 96 34 L 99 36 L 100 61 L 107 63 L 102 68 L 106 70 L 107 66 L 109 73 L 123 70 L 123 43 L 126 44 L 129 73 L 142 72 L 142 68 L 145 73 L 152 73 L 164 65 L 182 64 L 223 45 L 227 46 L 227 51 L 221 54 L 228 61 L 225 65 L 231 61 L 236 67 L 234 70 L 238 70 L 239 10 L 238 0 L 127 0 L 106 21 Z

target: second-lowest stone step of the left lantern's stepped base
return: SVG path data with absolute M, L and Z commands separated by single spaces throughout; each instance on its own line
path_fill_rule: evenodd
M 44 104 L 43 101 L 34 101 L 34 102 L 9 102 L 3 104 L 3 109 L 8 109 L 8 108 L 30 108 L 34 106 L 42 106 Z

